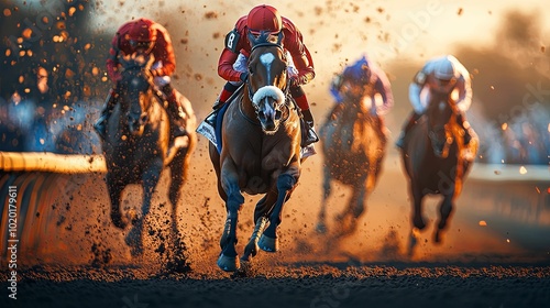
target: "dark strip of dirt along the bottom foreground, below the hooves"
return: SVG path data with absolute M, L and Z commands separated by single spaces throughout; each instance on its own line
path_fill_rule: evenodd
M 138 270 L 28 271 L 2 307 L 547 307 L 548 267 L 350 264 L 276 266 L 252 278 Z M 275 274 L 276 273 L 276 274 Z M 18 306 L 4 306 L 3 302 Z

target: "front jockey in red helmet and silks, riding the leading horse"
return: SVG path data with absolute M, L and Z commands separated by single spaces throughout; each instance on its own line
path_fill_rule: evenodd
M 249 75 L 248 57 L 252 50 L 248 35 L 257 36 L 262 32 L 270 33 L 270 41 L 273 43 L 278 43 L 282 40 L 280 45 L 287 55 L 290 55 L 288 57 L 290 95 L 296 100 L 304 120 L 309 127 L 302 144 L 310 145 L 319 139 L 314 130 L 314 116 L 301 86 L 315 78 L 314 61 L 302 42 L 301 32 L 296 25 L 287 18 L 280 16 L 277 9 L 266 4 L 254 7 L 248 15 L 241 16 L 234 29 L 226 36 L 226 47 L 218 62 L 218 75 L 228 82 L 213 105 L 215 112 L 207 117 L 206 122 L 216 123 L 217 110 L 246 80 Z

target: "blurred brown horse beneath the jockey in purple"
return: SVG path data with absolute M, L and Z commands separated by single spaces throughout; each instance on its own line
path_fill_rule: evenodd
M 366 198 L 381 173 L 386 153 L 386 129 L 371 108 L 371 100 L 363 97 L 345 97 L 332 109 L 319 131 L 324 158 L 323 198 L 317 224 L 317 231 L 321 233 L 327 231 L 326 208 L 331 182 L 337 180 L 352 188 L 348 206 L 337 217 L 339 234 L 344 235 L 355 231 L 358 219 L 365 210 Z

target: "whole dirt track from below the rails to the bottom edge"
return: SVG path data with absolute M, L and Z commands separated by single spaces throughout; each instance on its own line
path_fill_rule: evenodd
M 153 198 L 146 251 L 140 258 L 130 255 L 124 232 L 108 220 L 102 174 L 23 173 L 11 179 L 4 175 L 1 185 L 12 180 L 20 189 L 19 202 L 26 205 L 25 213 L 20 213 L 25 218 L 20 234 L 25 245 L 18 258 L 19 299 L 7 301 L 8 276 L 2 271 L 0 306 L 544 307 L 550 302 L 546 237 L 550 216 L 544 200 L 540 206 L 540 196 L 530 198 L 535 187 L 548 182 L 494 187 L 481 180 L 466 183 L 441 245 L 431 242 L 437 210 L 429 201 L 429 231 L 408 257 L 409 205 L 394 154 L 389 150 L 360 230 L 340 241 L 315 232 L 321 157 L 306 162 L 300 185 L 285 208 L 282 252 L 262 252 L 249 277 L 237 279 L 216 266 L 224 209 L 204 140 L 178 208 L 178 228 L 193 268 L 188 274 L 163 274 L 170 212 L 166 174 Z M 337 185 L 328 213 L 330 230 L 337 227 L 332 218 L 346 194 Z M 513 204 L 509 196 L 522 204 Z M 124 211 L 132 211 L 141 191 L 131 187 L 124 198 Z M 240 252 L 252 231 L 257 199 L 246 197 L 239 223 Z M 482 227 L 481 220 L 487 226 Z

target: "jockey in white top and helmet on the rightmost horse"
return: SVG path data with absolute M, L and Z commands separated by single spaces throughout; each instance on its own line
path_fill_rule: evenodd
M 457 122 L 464 128 L 464 157 L 472 160 L 470 153 L 470 141 L 472 132 L 470 123 L 466 121 L 466 110 L 472 103 L 472 80 L 468 69 L 452 55 L 446 55 L 428 61 L 424 67 L 415 75 L 409 86 L 409 100 L 413 105 L 413 112 L 396 142 L 398 147 L 403 148 L 407 132 L 416 124 L 426 110 L 428 97 L 426 90 L 448 94 L 449 98 L 454 99 L 457 108 Z M 426 91 L 429 95 L 429 91 Z

